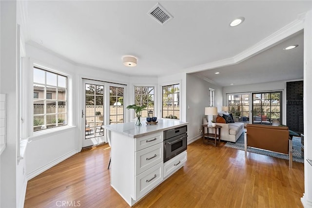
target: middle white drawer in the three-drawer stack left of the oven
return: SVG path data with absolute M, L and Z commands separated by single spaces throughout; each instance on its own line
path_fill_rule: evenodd
M 163 143 L 137 151 L 135 158 L 135 175 L 138 175 L 163 161 Z

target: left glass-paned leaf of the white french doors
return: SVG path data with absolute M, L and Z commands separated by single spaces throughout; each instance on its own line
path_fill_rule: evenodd
M 104 142 L 104 89 L 105 83 L 83 80 L 83 110 L 85 130 L 82 147 L 93 146 Z M 84 116 L 83 116 L 84 115 Z M 84 126 L 83 125 L 83 126 Z

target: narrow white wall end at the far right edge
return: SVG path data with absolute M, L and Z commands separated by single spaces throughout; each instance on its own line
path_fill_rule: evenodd
M 304 189 L 301 202 L 305 208 L 312 208 L 312 166 L 307 159 L 312 160 L 312 10 L 306 15 L 304 25 L 304 72 L 303 72 L 303 112 L 304 112 Z

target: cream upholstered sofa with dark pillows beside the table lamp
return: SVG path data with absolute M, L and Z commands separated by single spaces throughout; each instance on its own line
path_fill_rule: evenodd
M 203 124 L 208 124 L 207 118 L 203 119 Z M 244 123 L 235 122 L 230 124 L 216 123 L 216 125 L 221 125 L 221 140 L 236 142 L 239 136 L 244 132 Z M 205 128 L 205 133 L 206 128 Z M 209 128 L 209 133 L 215 133 L 215 129 Z

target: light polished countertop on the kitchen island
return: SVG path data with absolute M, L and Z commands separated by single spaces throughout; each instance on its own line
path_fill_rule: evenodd
M 142 125 L 137 126 L 135 122 L 123 124 L 103 125 L 103 128 L 122 133 L 131 138 L 139 138 L 158 131 L 168 130 L 174 127 L 187 125 L 188 122 L 180 122 L 174 119 L 159 119 L 156 125 L 147 125 L 146 120 L 142 120 Z

